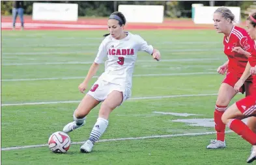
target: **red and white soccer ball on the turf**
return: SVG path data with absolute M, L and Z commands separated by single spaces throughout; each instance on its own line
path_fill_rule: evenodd
M 48 146 L 53 153 L 66 153 L 70 147 L 70 137 L 61 131 L 53 133 L 48 140 Z

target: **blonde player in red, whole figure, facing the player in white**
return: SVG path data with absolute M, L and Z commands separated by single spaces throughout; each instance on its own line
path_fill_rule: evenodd
M 214 27 L 218 33 L 223 33 L 224 53 L 228 57 L 228 61 L 218 68 L 218 73 L 224 74 L 227 71 L 226 77 L 223 80 L 216 101 L 214 111 L 215 130 L 217 139 L 211 140 L 207 146 L 208 149 L 216 149 L 225 147 L 225 124 L 221 121 L 221 116 L 227 110 L 227 106 L 233 97 L 237 94 L 234 86 L 242 76 L 248 63 L 248 57 L 233 51 L 233 47 L 241 47 L 244 51 L 251 51 L 253 40 L 249 37 L 245 29 L 233 25 L 235 16 L 226 7 L 220 7 L 214 12 Z M 246 92 L 246 96 L 253 91 L 252 77 L 248 77 L 244 84 L 239 89 L 239 92 Z

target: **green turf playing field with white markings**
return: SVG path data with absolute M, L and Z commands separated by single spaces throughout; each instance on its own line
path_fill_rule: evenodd
M 92 153 L 79 153 L 98 117 L 96 107 L 85 127 L 69 134 L 79 144 L 59 155 L 47 146 L 29 146 L 46 144 L 51 133 L 72 121 L 83 97 L 78 85 L 106 31 L 2 31 L 2 164 L 246 164 L 250 145 L 235 133 L 227 134 L 227 148 L 206 149 L 215 138 L 210 134 L 212 118 L 224 77 L 216 69 L 227 60 L 222 34 L 214 30 L 132 32 L 159 49 L 162 60 L 138 54 L 132 97 L 111 114 L 100 138 L 107 142 L 96 143 Z M 102 71 L 104 64 L 96 75 Z M 232 103 L 242 97 L 237 95 Z M 197 121 L 190 123 L 192 119 Z

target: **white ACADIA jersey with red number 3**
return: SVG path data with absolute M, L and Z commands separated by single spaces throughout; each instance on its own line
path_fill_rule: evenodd
M 130 32 L 126 34 L 128 35 L 122 40 L 116 40 L 111 35 L 107 36 L 100 44 L 94 62 L 103 63 L 104 58 L 107 57 L 105 71 L 99 79 L 131 88 L 137 52 L 145 51 L 151 55 L 153 47 L 148 45 L 141 36 Z

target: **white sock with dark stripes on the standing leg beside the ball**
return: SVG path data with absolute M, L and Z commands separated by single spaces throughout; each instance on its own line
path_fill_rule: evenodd
M 96 142 L 105 132 L 107 125 L 108 121 L 106 119 L 98 118 L 96 123 L 94 124 L 89 140 L 91 140 L 92 143 Z

